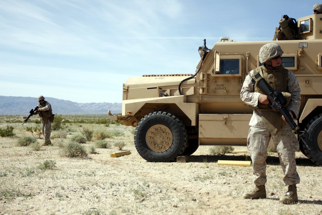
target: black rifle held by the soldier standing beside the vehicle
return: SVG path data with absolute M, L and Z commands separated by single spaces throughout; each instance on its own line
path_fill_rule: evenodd
M 298 137 L 301 138 L 302 142 L 304 143 L 305 147 L 310 150 L 306 142 L 304 141 L 304 138 L 302 135 L 304 134 L 303 131 L 300 130 L 300 127 L 294 122 L 293 117 L 289 113 L 288 110 L 286 110 L 283 105 L 287 103 L 287 100 L 283 96 L 283 94 L 279 90 L 274 90 L 267 82 L 266 80 L 260 76 L 260 73 L 257 73 L 254 78 L 251 80 L 252 83 L 257 82 L 257 86 L 267 94 L 268 101 L 270 102 L 270 106 L 274 111 L 279 110 L 279 112 L 285 117 L 285 120 L 287 123 L 289 123 L 289 126 L 291 126 L 292 132 L 297 134 Z

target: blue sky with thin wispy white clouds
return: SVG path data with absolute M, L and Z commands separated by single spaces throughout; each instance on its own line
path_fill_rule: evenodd
M 0 95 L 121 103 L 129 77 L 194 73 L 203 39 L 272 40 L 316 3 L 0 0 Z

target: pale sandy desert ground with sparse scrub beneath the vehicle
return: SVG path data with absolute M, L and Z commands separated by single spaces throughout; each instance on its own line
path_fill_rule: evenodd
M 213 146 L 200 146 L 186 163 L 147 162 L 135 149 L 132 127 L 71 119 L 64 128 L 66 137 L 57 138 L 60 131 L 53 131 L 53 144 L 36 151 L 30 146 L 17 146 L 17 142 L 31 136 L 26 126 L 39 123 L 30 120 L 22 125 L 21 116 L 14 117 L 0 116 L 0 128 L 13 126 L 15 133 L 13 137 L 0 137 L 0 215 L 322 214 L 322 167 L 301 152 L 297 152 L 296 160 L 301 177 L 299 201 L 285 205 L 279 202 L 287 187 L 276 152 L 270 152 L 267 159 L 267 199 L 249 200 L 242 194 L 254 188 L 252 167 L 217 164 L 218 160 L 247 161 L 248 152 L 212 155 Z M 85 158 L 63 156 L 64 145 L 84 127 L 118 131 L 118 136 L 106 138 L 109 148 L 96 148 L 96 153 L 88 153 Z M 126 146 L 120 150 L 113 146 L 117 141 Z M 94 144 L 93 140 L 82 145 L 89 150 Z M 125 150 L 131 154 L 110 156 Z M 44 161 L 55 165 L 40 168 Z

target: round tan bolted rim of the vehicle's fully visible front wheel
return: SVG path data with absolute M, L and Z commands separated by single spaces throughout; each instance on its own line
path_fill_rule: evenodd
M 156 152 L 166 151 L 172 144 L 172 132 L 165 125 L 153 125 L 147 131 L 147 146 Z

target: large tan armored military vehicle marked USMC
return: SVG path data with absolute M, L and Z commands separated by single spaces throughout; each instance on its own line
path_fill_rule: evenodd
M 279 24 L 273 41 L 223 37 L 208 49 L 204 40 L 195 74 L 129 78 L 123 84 L 122 114 L 111 119 L 136 127 L 135 146 L 147 161 L 175 161 L 199 145 L 245 146 L 253 109 L 240 98 L 242 84 L 260 66 L 260 47 L 278 43 L 282 65 L 293 71 L 301 88 L 296 123 L 310 148 L 300 140 L 301 151 L 322 165 L 322 14 L 299 18 L 296 31 L 285 19 Z

